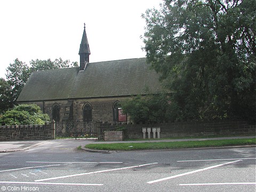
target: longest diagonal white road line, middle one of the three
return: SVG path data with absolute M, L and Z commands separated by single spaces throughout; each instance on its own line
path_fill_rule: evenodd
M 131 168 L 134 168 L 134 167 L 141 167 L 141 166 L 154 165 L 154 164 L 158 164 L 158 163 L 148 163 L 148 164 L 143 164 L 143 165 L 135 165 L 135 166 L 123 167 L 123 168 L 117 168 L 117 169 L 101 170 L 101 171 L 94 171 L 94 172 L 80 173 L 80 174 L 73 174 L 73 175 L 65 175 L 65 176 L 62 176 L 62 177 L 54 177 L 54 178 L 47 178 L 47 179 L 38 179 L 38 180 L 35 180 L 35 181 L 38 182 L 38 181 L 47 181 L 47 180 L 54 180 L 54 179 L 62 179 L 62 178 L 69 178 L 69 177 L 75 177 L 75 176 L 81 176 L 81 175 L 87 175 L 87 174 L 103 173 L 103 172 L 116 171 L 116 170 L 125 170 L 125 169 L 131 169 Z

